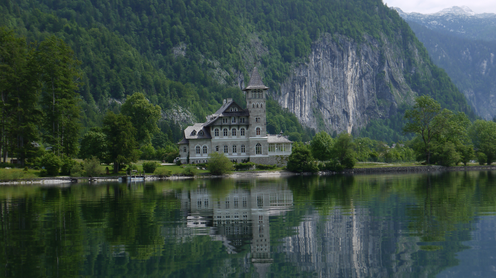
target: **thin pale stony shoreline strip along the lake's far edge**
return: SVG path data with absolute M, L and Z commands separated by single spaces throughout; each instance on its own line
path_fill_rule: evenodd
M 145 176 L 145 181 L 165 181 L 165 180 L 183 180 L 194 178 L 242 178 L 242 177 L 274 177 L 274 176 L 290 176 L 290 175 L 335 175 L 335 174 L 359 174 L 359 173 L 397 173 L 397 172 L 424 172 L 424 171 L 466 171 L 466 170 L 496 170 L 496 165 L 475 165 L 475 166 L 438 166 L 438 165 L 425 165 L 425 166 L 392 166 L 392 167 L 371 167 L 371 168 L 352 168 L 344 169 L 340 172 L 332 171 L 319 171 L 317 173 L 294 173 L 286 170 L 282 171 L 240 171 L 233 172 L 223 176 L 213 176 L 208 173 L 202 173 L 198 176 L 187 177 L 181 175 L 173 175 L 171 177 L 160 178 L 157 175 Z M 120 176 L 99 178 L 91 182 L 115 182 L 119 181 Z M 76 180 L 76 181 L 75 181 Z M 19 181 L 1 181 L 0 185 L 12 184 L 61 184 L 61 183 L 77 183 L 81 180 L 89 180 L 89 178 L 70 178 L 70 177 L 51 177 L 51 178 L 37 178 L 31 180 Z

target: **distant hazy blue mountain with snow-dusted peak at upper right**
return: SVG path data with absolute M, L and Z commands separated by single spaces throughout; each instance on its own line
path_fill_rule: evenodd
M 437 13 L 404 13 L 433 62 L 485 119 L 496 116 L 496 14 L 476 14 L 468 7 L 451 7 Z

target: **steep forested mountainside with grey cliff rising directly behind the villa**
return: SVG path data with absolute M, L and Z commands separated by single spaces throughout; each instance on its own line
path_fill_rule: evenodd
M 28 42 L 54 34 L 74 50 L 86 130 L 101 125 L 107 109 L 118 112 L 127 95 L 143 92 L 162 108 L 162 131 L 178 140 L 181 125 L 203 121 L 222 98 L 243 103 L 240 88 L 254 63 L 275 99 L 267 105 L 271 133 L 308 140 L 311 129 L 362 130 L 403 139 L 402 111 L 417 94 L 473 117 L 408 25 L 380 0 L 3 0 L 0 15 L 1 26 Z M 293 86 L 298 69 L 315 61 L 319 44 L 335 50 L 331 58 L 341 55 L 335 65 L 352 74 L 314 75 L 300 83 L 312 92 L 302 93 Z M 325 79 L 337 82 L 327 86 Z M 342 92 L 333 96 L 335 86 Z M 311 111 L 295 105 L 297 95 Z

